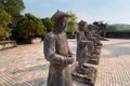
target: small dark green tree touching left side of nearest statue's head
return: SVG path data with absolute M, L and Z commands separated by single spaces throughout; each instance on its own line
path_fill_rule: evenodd
M 46 17 L 42 20 L 42 24 L 46 26 L 47 31 L 50 32 L 53 29 L 54 23 L 51 20 L 51 18 Z

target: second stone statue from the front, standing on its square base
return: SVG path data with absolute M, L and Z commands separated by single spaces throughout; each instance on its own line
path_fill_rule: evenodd
M 88 58 L 88 45 L 90 41 L 87 40 L 84 35 L 86 29 L 86 22 L 81 20 L 78 24 L 79 31 L 77 32 L 77 61 L 78 66 L 76 64 L 75 69 L 73 70 L 73 77 L 76 81 L 86 83 L 90 86 L 94 85 L 96 78 L 96 69 L 93 67 L 89 67 L 87 64 Z

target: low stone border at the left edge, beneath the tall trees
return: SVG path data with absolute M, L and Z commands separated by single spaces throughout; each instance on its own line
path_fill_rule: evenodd
M 16 47 L 15 41 L 0 41 L 0 51 L 11 48 L 11 47 Z

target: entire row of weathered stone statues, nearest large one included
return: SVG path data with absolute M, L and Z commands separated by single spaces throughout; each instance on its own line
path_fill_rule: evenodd
M 44 37 L 43 52 L 44 58 L 50 62 L 48 86 L 73 86 L 73 80 L 94 85 L 96 69 L 87 63 L 99 63 L 99 55 L 102 44 L 98 34 L 96 23 L 89 25 L 84 32 L 86 22 L 78 23 L 79 30 L 77 37 L 77 52 L 70 52 L 64 30 L 69 15 L 57 11 L 53 16 L 53 31 Z

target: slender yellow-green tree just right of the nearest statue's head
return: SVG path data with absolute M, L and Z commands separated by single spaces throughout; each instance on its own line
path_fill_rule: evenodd
M 68 12 L 70 18 L 67 24 L 67 31 L 72 34 L 74 34 L 77 31 L 77 16 L 73 12 Z

